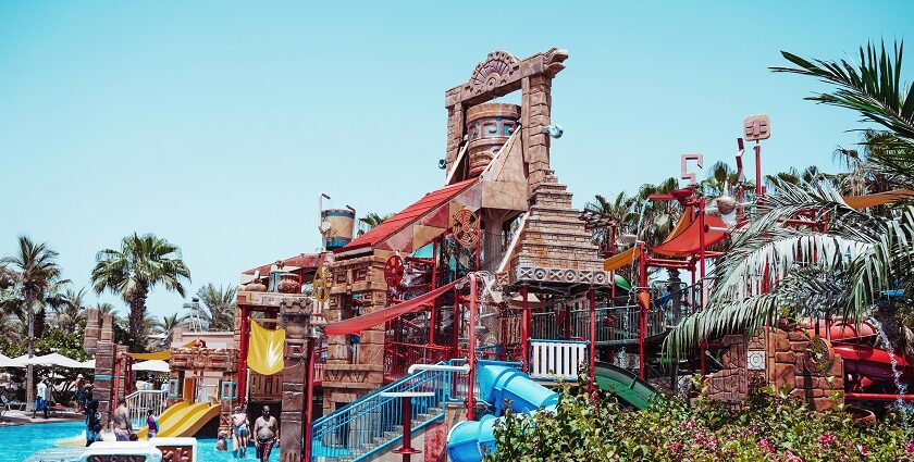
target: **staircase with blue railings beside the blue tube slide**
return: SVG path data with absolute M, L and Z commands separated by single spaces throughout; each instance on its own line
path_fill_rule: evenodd
M 318 419 L 313 424 L 312 461 L 366 461 L 398 448 L 403 438 L 404 398 L 381 395 L 399 391 L 434 394 L 412 398 L 411 426 L 415 434 L 443 420 L 447 402 L 465 400 L 466 375 L 453 371 L 419 371 Z

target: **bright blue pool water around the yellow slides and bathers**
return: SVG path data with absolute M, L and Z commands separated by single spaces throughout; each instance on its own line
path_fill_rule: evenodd
M 54 424 L 28 424 L 0 427 L 0 462 L 22 462 L 40 450 L 54 448 L 55 441 L 67 440 L 85 435 L 82 422 L 62 422 Z M 71 448 L 61 448 L 75 451 Z M 234 459 L 232 452 L 215 450 L 215 439 L 198 439 L 197 455 L 201 462 L 227 462 L 237 460 L 255 461 L 254 446 L 248 448 L 247 458 Z M 279 448 L 273 448 L 270 461 L 280 460 Z

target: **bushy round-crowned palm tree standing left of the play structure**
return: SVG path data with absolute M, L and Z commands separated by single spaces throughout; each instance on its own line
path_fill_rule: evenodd
M 129 307 L 127 317 L 131 345 L 143 348 L 146 298 L 157 285 L 184 297 L 184 280 L 190 272 L 181 259 L 181 249 L 152 234 L 134 234 L 121 241 L 121 250 L 104 249 L 96 257 L 92 289 L 96 294 L 111 290 Z

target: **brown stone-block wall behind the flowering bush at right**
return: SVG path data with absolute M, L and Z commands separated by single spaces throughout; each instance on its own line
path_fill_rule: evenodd
M 724 369 L 705 378 L 711 399 L 739 404 L 754 384 L 771 385 L 825 410 L 837 404 L 832 392 L 844 389 L 841 357 L 824 338 L 811 338 L 803 330 L 766 328 L 749 339 L 726 336 L 724 345 Z

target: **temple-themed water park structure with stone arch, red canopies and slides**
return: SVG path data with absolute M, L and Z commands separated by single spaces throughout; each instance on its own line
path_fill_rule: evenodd
M 579 376 L 635 408 L 681 392 L 693 374 L 711 399 L 732 404 L 756 382 L 818 410 L 912 399 L 893 380 L 914 373 L 914 359 L 878 348 L 876 326 L 854 320 L 767 326 L 665 354 L 669 329 L 706 302 L 708 269 L 726 257 L 720 244 L 765 200 L 761 142 L 771 122 L 749 117 L 739 140 L 741 178 L 743 142 L 755 142 L 756 189 L 703 197 L 690 166 L 704 159 L 685 154 L 684 187 L 651 197 L 682 207 L 669 235 L 654 246 L 616 236 L 612 217 L 572 207 L 549 162 L 563 134 L 551 117 L 552 86 L 568 58 L 555 48 L 524 59 L 495 51 L 477 64 L 445 92 L 442 187 L 359 236 L 355 210 L 320 210 L 321 252 L 242 274 L 232 348 L 132 354 L 113 344 L 110 315 L 90 313 L 86 349 L 96 354 L 102 413 L 131 395 L 133 361 L 164 354 L 172 372 L 160 435 L 195 436 L 217 416 L 227 430 L 235 405 L 271 404 L 281 409 L 285 462 L 479 461 L 497 450 L 493 428 L 506 405 L 548 412 L 555 385 Z M 516 91 L 519 105 L 496 101 Z M 869 207 L 906 196 L 845 200 Z M 816 216 L 789 224 L 828 226 Z M 594 229 L 613 235 L 612 248 L 593 242 Z M 632 267 L 634 280 L 617 274 Z M 746 290 L 764 292 L 763 279 Z M 207 373 L 218 392 L 202 396 Z

